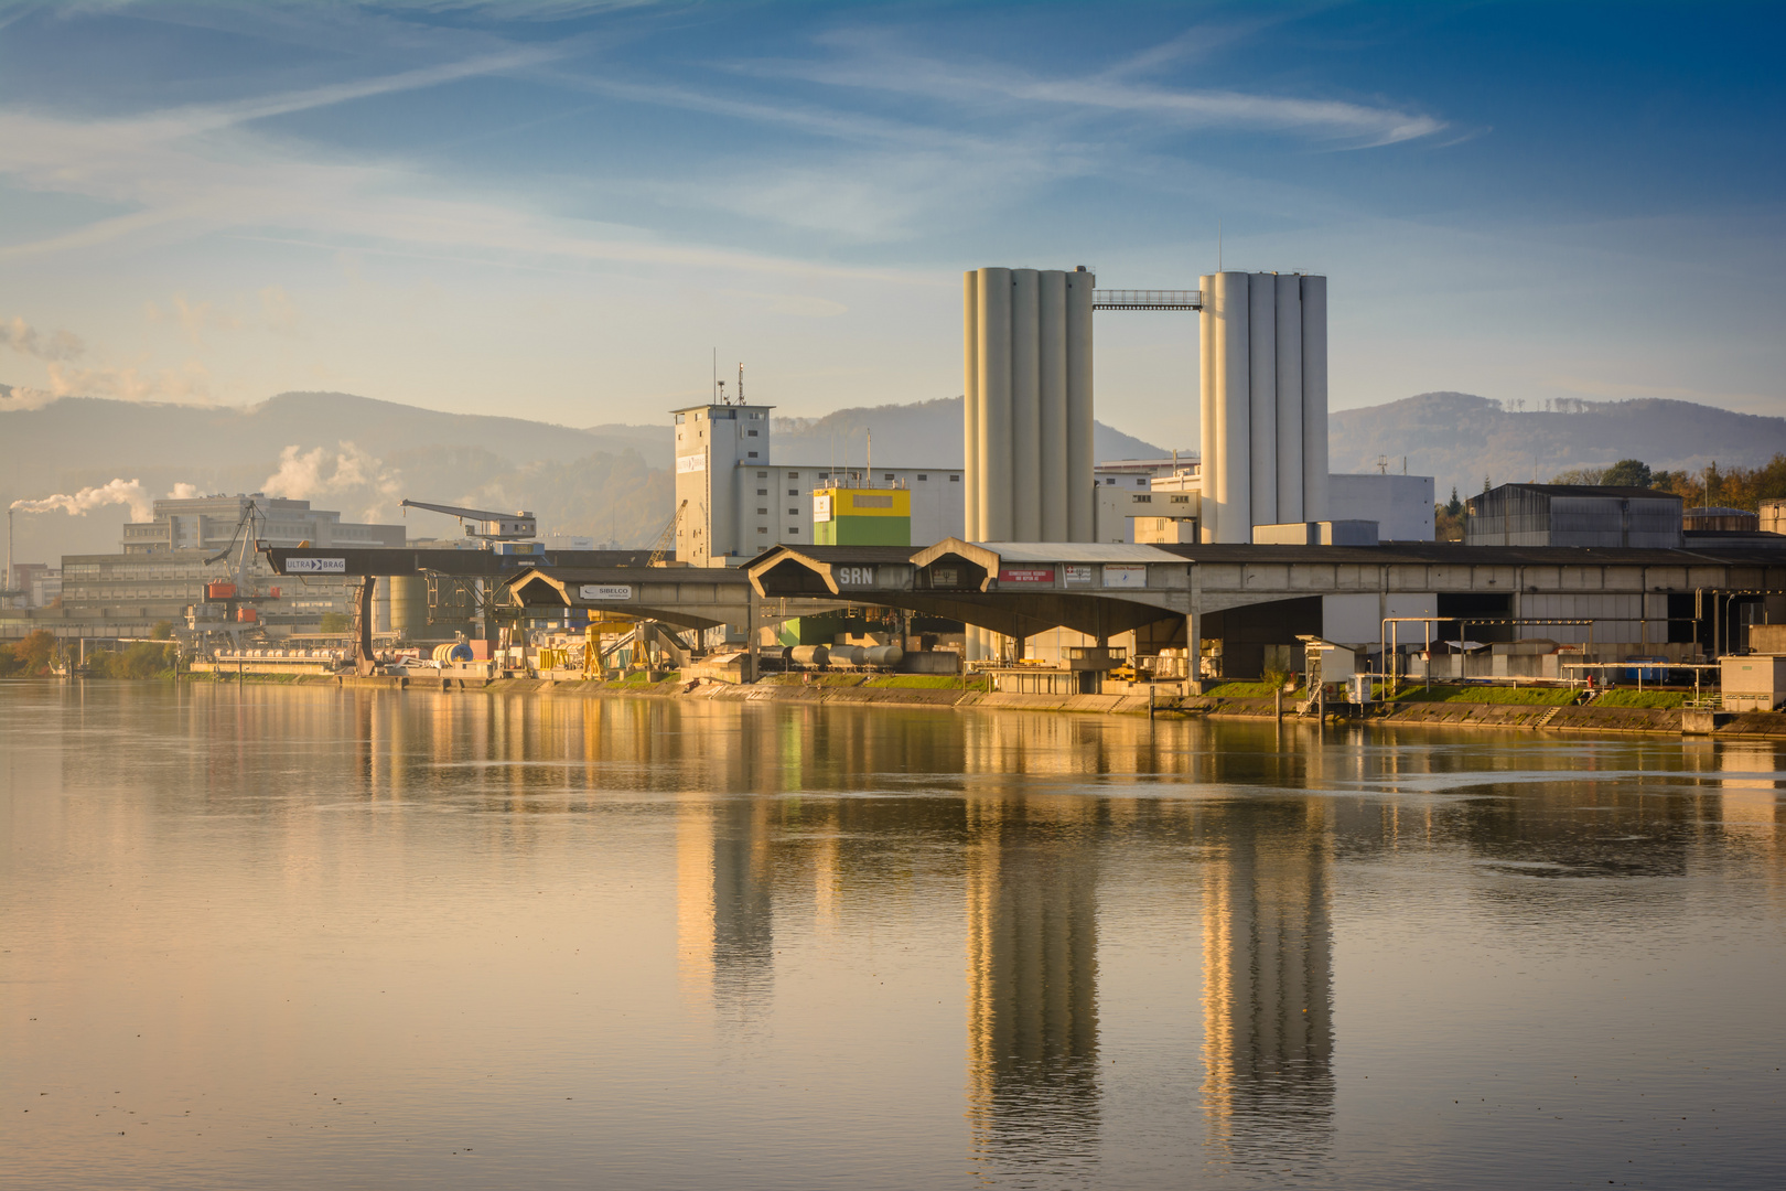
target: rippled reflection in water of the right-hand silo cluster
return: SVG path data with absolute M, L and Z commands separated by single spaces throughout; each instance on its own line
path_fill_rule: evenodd
M 1332 1137 L 1325 816 L 1323 800 L 1268 800 L 1200 821 L 1218 848 L 1204 882 L 1204 1112 L 1220 1162 L 1307 1161 Z

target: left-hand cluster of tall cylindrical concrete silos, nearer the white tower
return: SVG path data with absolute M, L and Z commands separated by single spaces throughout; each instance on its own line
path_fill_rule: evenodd
M 1091 295 L 1063 270 L 963 275 L 970 541 L 1091 541 Z

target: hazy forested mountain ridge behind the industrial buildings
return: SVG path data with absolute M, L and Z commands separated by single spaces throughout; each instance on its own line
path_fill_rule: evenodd
M 0 386 L 0 393 L 5 393 Z M 1331 414 L 1334 471 L 1432 475 L 1438 495 L 1491 482 L 1548 480 L 1570 468 L 1641 459 L 1652 468 L 1757 466 L 1786 452 L 1786 418 L 1673 400 L 1579 402 L 1577 412 L 1516 412 L 1470 393 L 1416 396 Z M 961 398 L 777 418 L 772 455 L 814 468 L 963 464 Z M 396 520 L 404 496 L 489 509 L 530 509 L 541 529 L 639 546 L 670 516 L 673 430 L 663 425 L 563 427 L 523 418 L 448 414 L 348 393 L 280 393 L 250 407 L 150 405 L 63 398 L 0 411 L 0 505 L 139 479 L 148 496 L 268 491 Z M 1097 461 L 1157 459 L 1161 446 L 1097 423 Z M 121 505 L 86 516 L 16 520 L 18 559 L 118 548 Z M 438 514 L 409 516 L 411 536 L 457 534 Z

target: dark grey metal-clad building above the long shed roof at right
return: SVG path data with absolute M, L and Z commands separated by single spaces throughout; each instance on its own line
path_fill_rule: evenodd
M 1468 546 L 1677 550 L 1681 498 L 1654 487 L 1502 484 L 1465 502 Z

